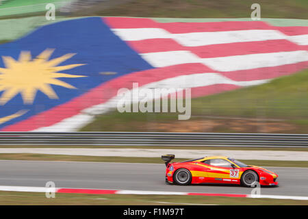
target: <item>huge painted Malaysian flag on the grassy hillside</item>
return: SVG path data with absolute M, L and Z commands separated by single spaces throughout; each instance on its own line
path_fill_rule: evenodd
M 54 23 L 0 45 L 0 130 L 77 130 L 133 82 L 192 97 L 266 83 L 307 68 L 307 51 L 308 27 L 262 21 Z

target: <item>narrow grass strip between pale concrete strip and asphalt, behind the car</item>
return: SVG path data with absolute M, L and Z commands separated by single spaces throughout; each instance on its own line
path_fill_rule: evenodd
M 64 161 L 64 162 L 116 162 L 116 163 L 142 163 L 142 164 L 164 164 L 160 157 L 99 157 L 99 156 L 77 156 L 77 155 L 45 155 L 31 153 L 2 153 L 0 159 L 5 160 L 33 160 L 33 161 Z M 177 158 L 174 162 L 182 162 L 187 159 Z M 308 168 L 305 161 L 278 161 L 278 160 L 255 160 L 240 159 L 245 164 L 255 166 L 281 166 Z

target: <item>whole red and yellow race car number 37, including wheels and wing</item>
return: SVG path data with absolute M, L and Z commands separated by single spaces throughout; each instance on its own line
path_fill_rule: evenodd
M 278 175 L 258 166 L 243 164 L 230 157 L 202 157 L 185 162 L 170 163 L 175 155 L 163 155 L 166 164 L 166 182 L 177 185 L 196 183 L 231 183 L 255 187 L 278 185 Z

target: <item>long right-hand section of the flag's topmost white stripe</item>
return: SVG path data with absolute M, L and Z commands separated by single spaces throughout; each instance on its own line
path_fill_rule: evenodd
M 280 31 L 264 29 L 172 34 L 172 38 L 185 47 L 198 47 L 231 42 L 281 40 L 286 37 L 287 36 Z

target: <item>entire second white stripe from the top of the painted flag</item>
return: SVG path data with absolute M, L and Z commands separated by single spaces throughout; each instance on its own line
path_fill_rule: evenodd
M 226 57 L 200 58 L 190 51 L 168 51 L 140 54 L 152 66 L 160 68 L 175 64 L 202 63 L 213 70 L 234 71 L 294 64 L 308 61 L 307 51 L 258 53 Z

